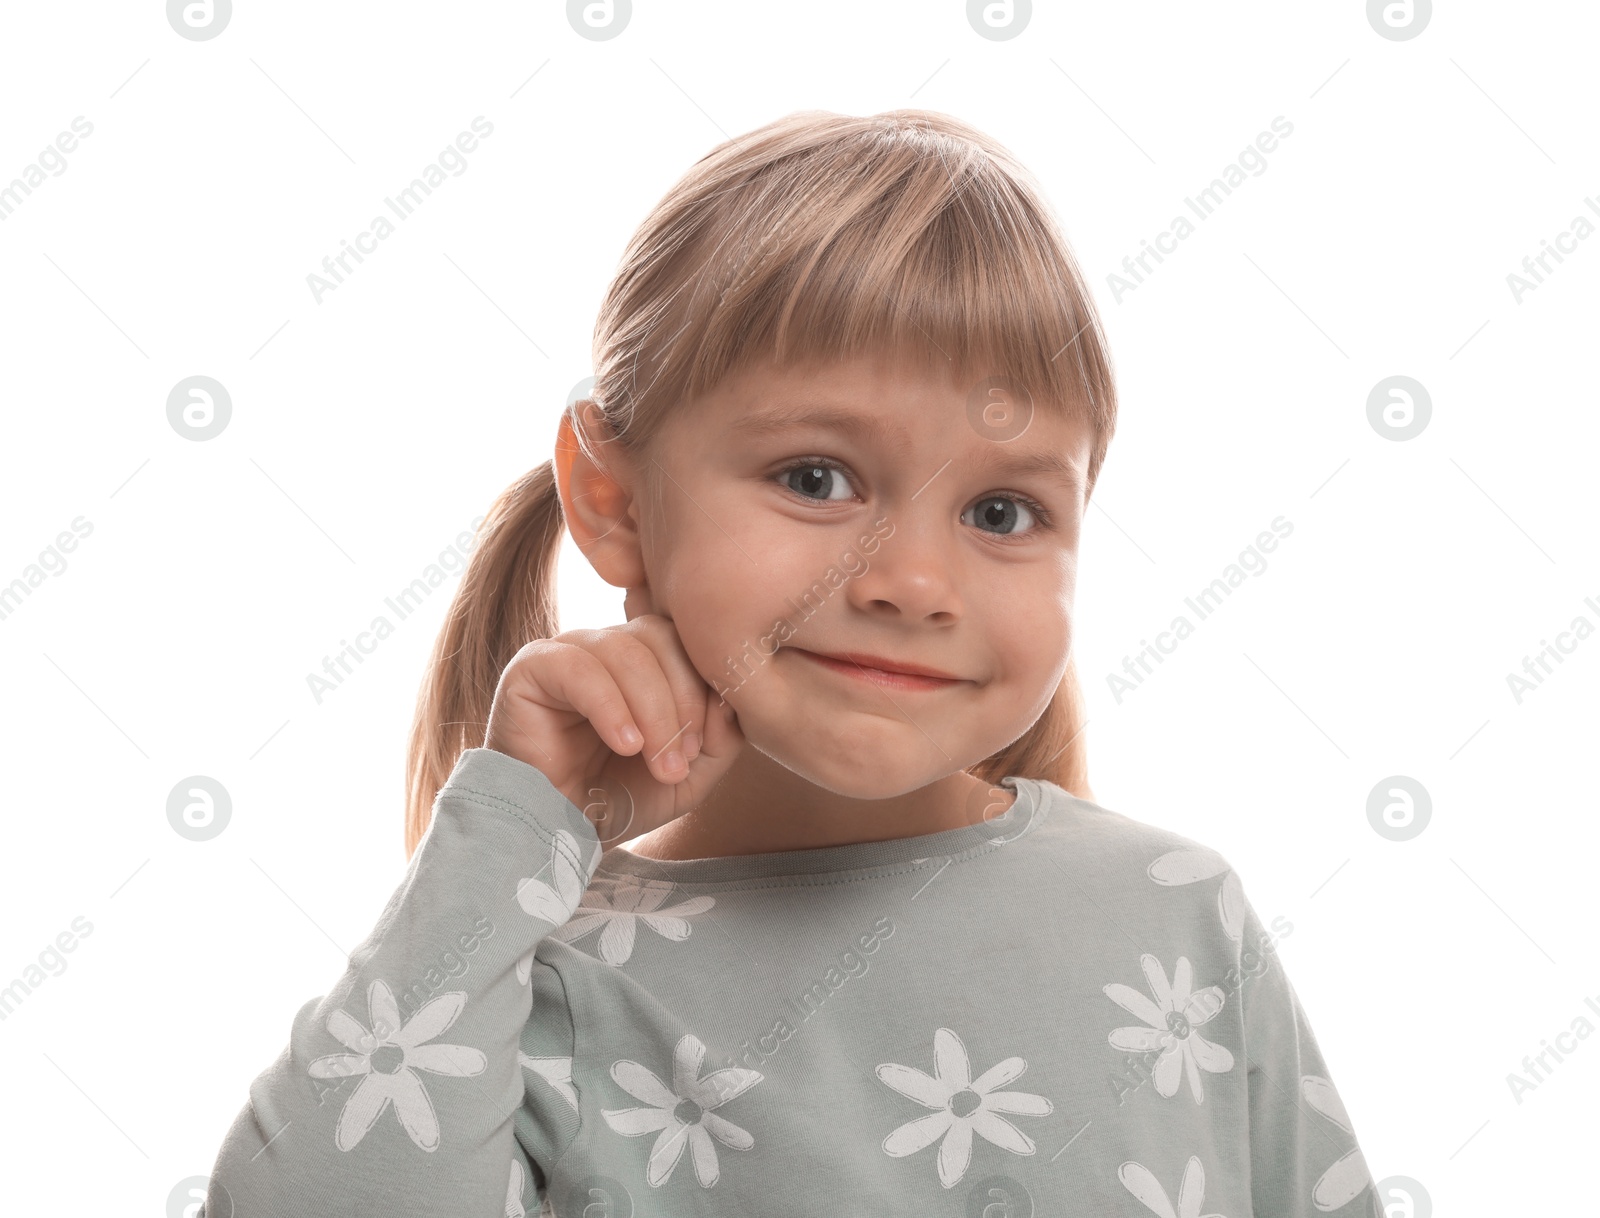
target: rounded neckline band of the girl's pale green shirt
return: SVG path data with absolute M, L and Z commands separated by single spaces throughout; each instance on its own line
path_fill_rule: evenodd
M 914 837 L 891 837 L 883 842 L 848 842 L 811 850 L 774 850 L 760 855 L 725 855 L 722 858 L 645 858 L 622 847 L 600 856 L 595 875 L 635 875 L 672 883 L 725 883 L 786 875 L 837 875 L 870 871 L 923 859 L 960 861 L 986 847 L 1003 845 L 1022 837 L 1042 819 L 1046 805 L 1045 783 L 1011 775 L 998 786 L 1016 792 L 1011 807 L 992 819 L 941 829 Z

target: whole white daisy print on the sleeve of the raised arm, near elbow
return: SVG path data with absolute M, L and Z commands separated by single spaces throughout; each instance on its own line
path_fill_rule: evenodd
M 424 1151 L 438 1149 L 438 1116 L 416 1071 L 448 1074 L 456 1079 L 482 1074 L 488 1058 L 467 1045 L 430 1045 L 443 1036 L 467 1005 L 461 991 L 438 994 L 400 1024 L 400 1008 L 389 986 L 374 980 L 366 988 L 368 1031 L 352 1015 L 336 1010 L 328 1031 L 350 1052 L 330 1053 L 307 1068 L 314 1079 L 342 1079 L 365 1074 L 339 1112 L 333 1141 L 341 1151 L 355 1149 L 394 1100 L 400 1127 Z

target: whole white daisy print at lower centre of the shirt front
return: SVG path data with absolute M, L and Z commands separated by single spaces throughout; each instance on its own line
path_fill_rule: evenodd
M 1021 1077 L 1026 1069 L 1027 1063 L 1022 1058 L 1006 1058 L 973 1079 L 962 1037 L 949 1028 L 939 1028 L 933 1034 L 931 1077 L 915 1066 L 894 1063 L 878 1066 L 875 1071 L 886 1087 L 933 1109 L 930 1116 L 917 1117 L 890 1133 L 883 1140 L 883 1152 L 894 1157 L 917 1154 L 942 1138 L 938 1164 L 939 1183 L 944 1188 L 955 1188 L 966 1175 L 974 1133 L 1011 1154 L 1032 1154 L 1034 1140 L 1000 1114 L 1045 1116 L 1054 1104 L 1029 1092 L 995 1090 Z

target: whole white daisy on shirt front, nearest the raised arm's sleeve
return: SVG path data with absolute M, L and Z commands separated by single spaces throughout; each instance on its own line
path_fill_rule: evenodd
M 742 1066 L 725 1066 L 702 1079 L 699 1071 L 704 1060 L 706 1045 L 699 1037 L 685 1034 L 672 1050 L 670 1087 L 637 1061 L 611 1063 L 611 1077 L 618 1087 L 635 1100 L 643 1100 L 648 1108 L 606 1108 L 600 1116 L 629 1138 L 661 1130 L 650 1148 L 650 1165 L 645 1170 L 651 1188 L 661 1188 L 672 1178 L 672 1168 L 683 1157 L 685 1146 L 690 1148 L 701 1188 L 710 1188 L 720 1175 L 712 1138 L 736 1151 L 747 1151 L 755 1144 L 755 1138 L 712 1109 L 744 1095 L 765 1076 Z

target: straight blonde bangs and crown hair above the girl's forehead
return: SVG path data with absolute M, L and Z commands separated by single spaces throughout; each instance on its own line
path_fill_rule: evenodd
M 635 264 L 656 307 L 629 311 L 627 375 L 597 376 L 614 386 L 608 415 L 642 421 L 645 399 L 693 400 L 752 363 L 888 355 L 965 389 L 1005 378 L 1032 408 L 1086 419 L 1093 487 L 1115 421 L 1110 360 L 1027 171 L 978 131 L 939 130 L 944 115 L 798 118 L 803 146 L 782 147 L 781 120 L 715 149 L 677 206 L 662 202 L 651 240 L 666 242 Z M 827 120 L 840 130 L 819 138 Z

